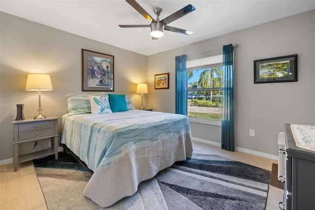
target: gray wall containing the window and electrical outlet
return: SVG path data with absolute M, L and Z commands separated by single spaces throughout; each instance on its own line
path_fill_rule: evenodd
M 234 50 L 235 146 L 278 155 L 284 123 L 315 125 L 315 10 L 149 56 L 148 106 L 175 112 L 175 56 L 230 43 L 240 44 Z M 298 54 L 298 82 L 253 84 L 254 60 L 292 54 Z M 155 90 L 154 75 L 166 72 L 170 89 Z M 196 138 L 220 143 L 220 132 L 218 126 L 191 123 Z

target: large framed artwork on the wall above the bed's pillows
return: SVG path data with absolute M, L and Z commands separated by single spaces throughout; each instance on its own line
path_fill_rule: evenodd
M 82 49 L 82 91 L 114 91 L 114 56 Z

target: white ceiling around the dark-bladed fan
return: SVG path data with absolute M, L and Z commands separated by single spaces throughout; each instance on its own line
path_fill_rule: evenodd
M 137 0 L 160 19 L 188 4 L 196 9 L 169 26 L 193 31 L 182 35 L 164 31 L 152 40 L 150 28 L 118 25 L 148 24 L 125 0 L 1 0 L 0 10 L 18 17 L 111 44 L 143 55 L 152 55 L 212 37 L 315 9 L 315 0 Z

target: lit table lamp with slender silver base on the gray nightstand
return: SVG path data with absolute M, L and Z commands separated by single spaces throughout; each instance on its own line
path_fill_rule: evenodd
M 28 75 L 28 79 L 26 81 L 25 90 L 28 91 L 38 91 L 38 100 L 39 100 L 39 108 L 38 108 L 38 115 L 34 117 L 35 120 L 37 119 L 45 119 L 46 116 L 42 115 L 42 109 L 40 104 L 40 96 L 41 91 L 53 90 L 51 85 L 50 75 L 42 74 L 42 73 L 30 73 Z

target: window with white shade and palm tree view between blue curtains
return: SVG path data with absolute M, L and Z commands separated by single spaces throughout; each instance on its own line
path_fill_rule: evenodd
M 189 120 L 221 124 L 222 54 L 186 63 Z

